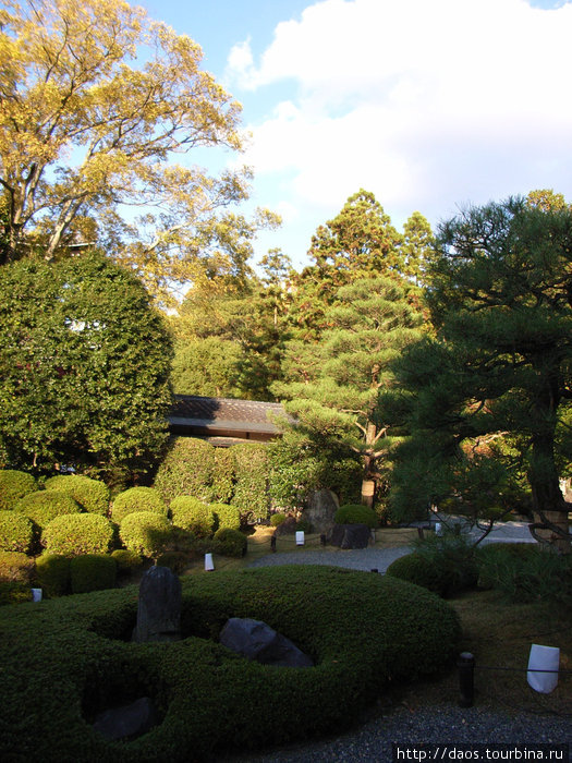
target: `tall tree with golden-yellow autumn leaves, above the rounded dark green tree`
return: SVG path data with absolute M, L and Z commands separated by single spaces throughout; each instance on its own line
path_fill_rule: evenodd
M 202 56 L 122 0 L 2 0 L 0 263 L 97 244 L 156 294 L 246 267 L 256 230 L 277 221 L 234 210 L 248 170 L 172 161 L 241 149 L 241 107 Z

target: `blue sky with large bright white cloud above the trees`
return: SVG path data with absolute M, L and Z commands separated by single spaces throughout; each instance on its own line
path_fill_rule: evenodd
M 360 189 L 401 229 L 553 189 L 572 202 L 572 0 L 146 0 L 243 106 L 248 206 L 300 269 Z M 210 154 L 209 154 L 210 152 Z M 247 208 L 245 208 L 245 211 Z

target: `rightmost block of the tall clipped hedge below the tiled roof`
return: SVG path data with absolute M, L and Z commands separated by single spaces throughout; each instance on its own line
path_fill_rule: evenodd
M 270 509 L 268 496 L 268 450 L 258 443 L 232 446 L 234 457 L 234 495 L 231 504 L 241 514 L 267 519 Z

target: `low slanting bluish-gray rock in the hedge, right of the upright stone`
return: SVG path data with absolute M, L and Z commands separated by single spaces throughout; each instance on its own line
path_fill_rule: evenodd
M 312 667 L 314 663 L 285 635 L 261 620 L 231 617 L 220 632 L 220 643 L 227 649 L 264 665 Z

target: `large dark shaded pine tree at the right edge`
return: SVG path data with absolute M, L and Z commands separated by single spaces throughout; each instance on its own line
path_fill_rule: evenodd
M 454 493 L 454 479 L 439 487 L 428 474 L 445 473 L 441 467 L 468 484 L 488 472 L 497 493 L 524 472 L 536 530 L 563 548 L 570 507 L 558 462 L 572 456 L 559 450 L 570 448 L 571 253 L 565 205 L 509 199 L 443 223 L 427 298 L 438 335 L 409 348 L 395 368 L 413 429 L 403 460 L 422 471 L 425 464 L 427 475 L 417 479 L 419 499 Z M 479 443 L 488 451 L 468 458 Z M 402 473 L 411 482 L 411 470 Z M 434 495 L 423 495 L 421 486 L 431 485 Z

